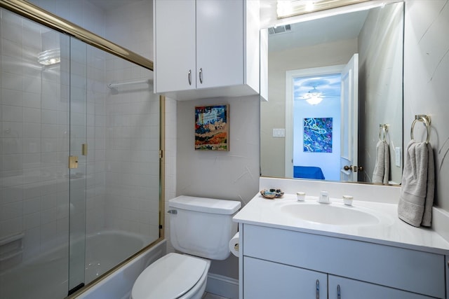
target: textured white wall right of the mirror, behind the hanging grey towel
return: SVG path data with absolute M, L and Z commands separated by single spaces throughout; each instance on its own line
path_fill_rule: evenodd
M 407 0 L 404 37 L 404 145 L 416 114 L 431 115 L 436 202 L 449 211 L 449 1 Z M 415 139 L 424 140 L 424 125 Z M 446 158 L 446 159 L 445 159 Z

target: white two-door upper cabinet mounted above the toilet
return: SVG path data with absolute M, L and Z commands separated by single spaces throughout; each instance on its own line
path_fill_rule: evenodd
M 259 2 L 155 0 L 155 92 L 175 99 L 256 95 Z

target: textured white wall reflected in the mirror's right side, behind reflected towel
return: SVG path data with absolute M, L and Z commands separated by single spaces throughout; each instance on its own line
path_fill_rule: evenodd
M 377 34 L 372 34 L 377 32 Z M 401 183 L 402 162 L 395 163 L 394 148 L 402 151 L 403 6 L 372 8 L 358 36 L 358 181 L 371 182 L 375 167 L 379 125 L 388 124 L 390 181 Z

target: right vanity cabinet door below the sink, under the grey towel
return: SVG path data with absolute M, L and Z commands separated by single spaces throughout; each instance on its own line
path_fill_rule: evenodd
M 406 275 L 406 273 L 404 273 Z M 329 275 L 329 299 L 424 299 L 434 298 L 396 288 Z

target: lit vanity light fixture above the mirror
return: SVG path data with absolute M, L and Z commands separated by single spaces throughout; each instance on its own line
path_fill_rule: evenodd
M 288 18 L 366 1 L 370 0 L 278 0 L 277 16 L 278 19 Z

